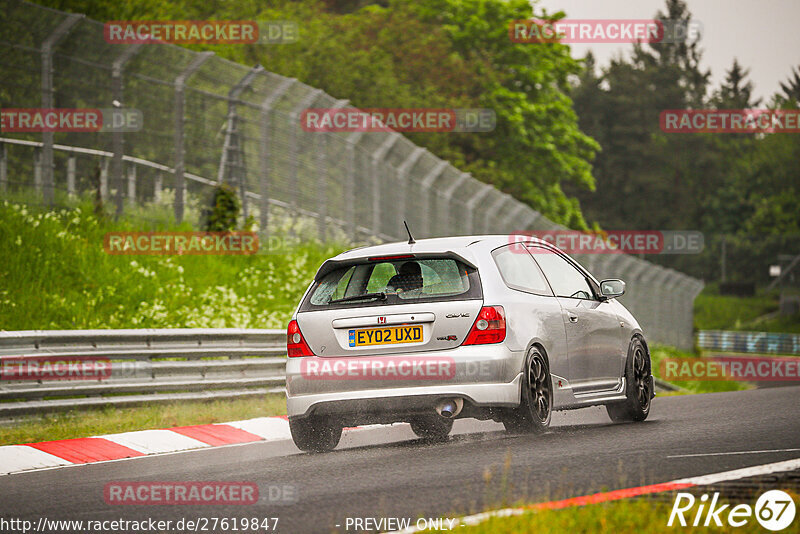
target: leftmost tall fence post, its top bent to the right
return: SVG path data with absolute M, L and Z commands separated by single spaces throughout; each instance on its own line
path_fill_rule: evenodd
M 83 18 L 83 15 L 67 15 L 47 36 L 42 43 L 42 108 L 52 109 L 54 107 L 53 98 L 53 49 L 69 33 L 75 24 Z M 53 178 L 53 132 L 42 133 L 42 154 L 39 163 L 39 185 L 37 192 L 43 193 L 43 200 L 46 205 L 50 205 L 55 200 L 55 180 Z M 44 189 L 42 189 L 44 185 Z

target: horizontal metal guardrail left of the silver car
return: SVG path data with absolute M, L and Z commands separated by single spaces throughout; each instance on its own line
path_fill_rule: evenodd
M 282 393 L 285 336 L 236 328 L 0 332 L 0 417 Z M 102 361 L 105 372 L 37 371 L 23 380 L 12 372 L 45 362 L 52 371 L 68 360 Z

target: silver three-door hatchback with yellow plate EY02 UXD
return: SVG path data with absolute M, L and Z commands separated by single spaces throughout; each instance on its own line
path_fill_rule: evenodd
M 603 404 L 642 421 L 655 395 L 650 354 L 616 297 L 547 242 L 423 239 L 327 260 L 288 327 L 289 425 L 302 450 L 344 427 L 408 422 L 445 440 L 453 419 L 547 428 L 553 410 Z

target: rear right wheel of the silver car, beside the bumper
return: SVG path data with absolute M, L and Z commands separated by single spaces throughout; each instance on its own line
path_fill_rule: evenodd
M 531 347 L 525 358 L 522 396 L 518 408 L 502 417 L 507 432 L 537 433 L 550 426 L 553 413 L 553 379 L 547 358 L 537 347 Z

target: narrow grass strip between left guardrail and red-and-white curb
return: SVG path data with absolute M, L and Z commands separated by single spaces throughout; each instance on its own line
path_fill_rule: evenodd
M 0 426 L 0 445 L 37 441 L 85 438 L 117 432 L 169 428 L 174 426 L 225 423 L 284 415 L 286 397 L 180 402 L 136 407 L 106 407 L 91 410 L 48 414 Z

